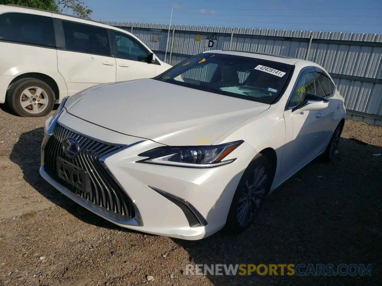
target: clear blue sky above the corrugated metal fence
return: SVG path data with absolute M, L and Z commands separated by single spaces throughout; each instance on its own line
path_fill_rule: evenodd
M 84 0 L 94 20 L 382 34 L 382 0 Z

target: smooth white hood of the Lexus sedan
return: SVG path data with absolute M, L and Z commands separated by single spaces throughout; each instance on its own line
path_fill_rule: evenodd
M 74 95 L 65 107 L 102 127 L 180 146 L 210 145 L 269 104 L 141 79 L 93 87 Z

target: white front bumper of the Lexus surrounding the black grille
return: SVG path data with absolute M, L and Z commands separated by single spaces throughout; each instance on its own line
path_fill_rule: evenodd
M 224 226 L 241 175 L 255 155 L 254 149 L 244 142 L 234 154 L 228 155 L 232 157 L 227 159 L 237 158 L 233 163 L 210 169 L 136 163 L 142 158 L 137 154 L 163 145 L 106 130 L 70 114 L 61 116 L 58 124 L 76 126 L 77 133 L 91 133 L 89 137 L 98 135 L 97 138 L 102 137 L 99 140 L 107 138 L 108 142 L 129 145 L 107 156 L 103 164 L 131 198 L 135 217 L 121 218 L 57 182 L 45 170 L 47 135 L 41 150 L 40 167 L 45 180 L 73 201 L 120 227 L 180 239 L 201 239 Z M 136 142 L 140 143 L 134 144 Z

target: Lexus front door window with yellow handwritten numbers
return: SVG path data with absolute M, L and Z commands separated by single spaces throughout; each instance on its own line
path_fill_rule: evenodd
M 311 69 L 306 69 L 301 72 L 290 96 L 288 108 L 298 106 L 303 103 L 306 98 L 306 93 L 316 94 L 314 73 L 315 72 L 312 72 Z

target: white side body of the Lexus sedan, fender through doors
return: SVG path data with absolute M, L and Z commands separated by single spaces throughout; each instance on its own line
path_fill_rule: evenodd
M 284 112 L 291 113 L 291 111 L 285 111 L 288 98 L 294 88 L 299 73 L 307 64 L 323 69 L 316 63 L 307 63 L 306 61 L 296 62 L 295 71 L 291 77 L 290 84 L 277 103 L 272 104 L 269 109 L 257 116 L 251 117 L 231 128 L 212 143 L 213 145 L 217 145 L 236 140 L 235 138 L 242 138 L 242 140 L 253 146 L 256 153 L 266 148 L 274 149 L 277 154 L 277 167 L 271 192 L 324 151 L 338 123 L 346 116 L 343 99 L 337 96 L 338 91 L 336 90 L 335 95 L 330 99 L 333 101 L 332 104 L 325 110 L 327 116 L 323 121 L 326 121 L 324 125 L 328 129 L 327 131 L 317 130 L 320 124 L 322 124 L 322 122 L 316 122 L 317 111 L 305 112 L 306 114 L 309 114 L 309 112 L 314 113 L 314 117 L 309 117 L 310 123 L 305 121 L 306 117 L 305 119 L 302 116 L 299 117 L 299 114 L 297 116 L 295 114 L 289 114 L 288 117 L 290 118 L 285 118 Z M 293 124 L 292 116 L 295 124 Z M 299 128 L 296 128 L 297 126 L 299 126 Z M 280 136 L 281 134 L 284 136 Z M 298 136 L 304 138 L 310 137 L 312 144 L 316 144 L 316 148 L 306 146 L 304 138 L 298 138 L 296 140 Z M 295 151 L 299 154 L 301 153 L 299 151 L 302 150 L 307 150 L 308 154 L 302 156 L 299 162 L 297 162 L 296 156 L 288 156 L 291 155 L 289 154 L 291 151 Z M 285 152 L 288 152 L 288 154 L 285 154 Z

